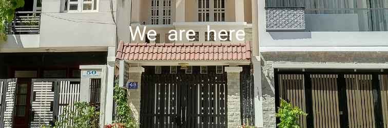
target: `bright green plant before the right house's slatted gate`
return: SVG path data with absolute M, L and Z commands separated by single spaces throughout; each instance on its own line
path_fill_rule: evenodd
M 280 107 L 276 114 L 276 117 L 280 118 L 280 122 L 277 124 L 280 128 L 299 128 L 299 115 L 307 114 L 297 106 L 293 107 L 287 101 L 283 99 L 280 100 Z

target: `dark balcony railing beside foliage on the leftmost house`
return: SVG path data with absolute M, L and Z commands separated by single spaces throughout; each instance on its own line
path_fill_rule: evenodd
M 41 12 L 15 12 L 12 22 L 6 25 L 8 34 L 39 34 Z

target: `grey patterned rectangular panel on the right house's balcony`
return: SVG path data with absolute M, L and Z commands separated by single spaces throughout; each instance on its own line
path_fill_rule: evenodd
M 266 8 L 267 30 L 304 30 L 304 8 Z

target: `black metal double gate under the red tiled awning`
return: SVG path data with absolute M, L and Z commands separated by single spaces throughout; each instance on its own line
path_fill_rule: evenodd
M 226 74 L 142 75 L 141 127 L 226 127 Z

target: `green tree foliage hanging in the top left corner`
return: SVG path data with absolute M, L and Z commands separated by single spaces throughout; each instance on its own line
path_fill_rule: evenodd
M 15 16 L 15 9 L 23 7 L 24 0 L 0 0 L 0 42 L 7 40 L 5 25 Z

